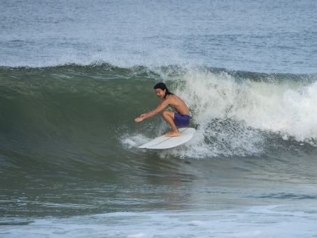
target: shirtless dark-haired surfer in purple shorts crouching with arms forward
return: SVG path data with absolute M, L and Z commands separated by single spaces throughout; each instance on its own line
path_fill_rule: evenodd
M 161 102 L 157 108 L 148 113 L 144 113 L 139 118 L 135 118 L 136 123 L 141 122 L 144 119 L 151 118 L 158 113 L 162 112 L 162 118 L 171 126 L 171 132 L 166 134 L 167 137 L 179 137 L 180 133 L 177 127 L 188 127 L 190 125 L 190 111 L 188 106 L 180 97 L 177 97 L 175 94 L 169 92 L 167 86 L 164 83 L 157 83 L 154 86 L 155 93 L 157 97 L 160 97 Z M 171 106 L 174 111 L 164 110 L 167 106 Z

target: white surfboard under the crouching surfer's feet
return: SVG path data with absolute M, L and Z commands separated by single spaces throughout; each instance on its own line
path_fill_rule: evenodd
M 174 148 L 176 146 L 180 146 L 185 142 L 189 141 L 195 134 L 195 128 L 180 128 L 178 129 L 181 132 L 179 137 L 165 137 L 162 135 L 161 137 L 157 137 L 139 148 L 150 149 L 150 150 L 163 150 L 167 148 Z

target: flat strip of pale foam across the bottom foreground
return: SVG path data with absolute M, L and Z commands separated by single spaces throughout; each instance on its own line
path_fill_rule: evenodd
M 302 211 L 302 212 L 298 212 Z M 215 211 L 119 212 L 40 218 L 2 226 L 6 237 L 312 237 L 316 207 L 260 206 Z

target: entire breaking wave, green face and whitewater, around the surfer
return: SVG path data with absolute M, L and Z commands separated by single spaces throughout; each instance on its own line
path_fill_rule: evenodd
M 3 155 L 71 153 L 83 160 L 87 148 L 92 155 L 131 153 L 168 130 L 158 116 L 134 123 L 157 106 L 159 81 L 188 104 L 197 128 L 188 144 L 162 157 L 260 156 L 317 145 L 316 74 L 71 64 L 2 67 L 0 77 Z

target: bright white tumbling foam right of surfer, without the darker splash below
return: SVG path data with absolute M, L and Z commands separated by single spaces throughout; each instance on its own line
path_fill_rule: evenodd
M 194 114 L 195 123 L 206 131 L 213 119 L 231 119 L 248 127 L 287 134 L 297 141 L 317 139 L 317 82 L 300 85 L 284 82 L 237 81 L 229 74 L 190 69 L 175 93 Z

